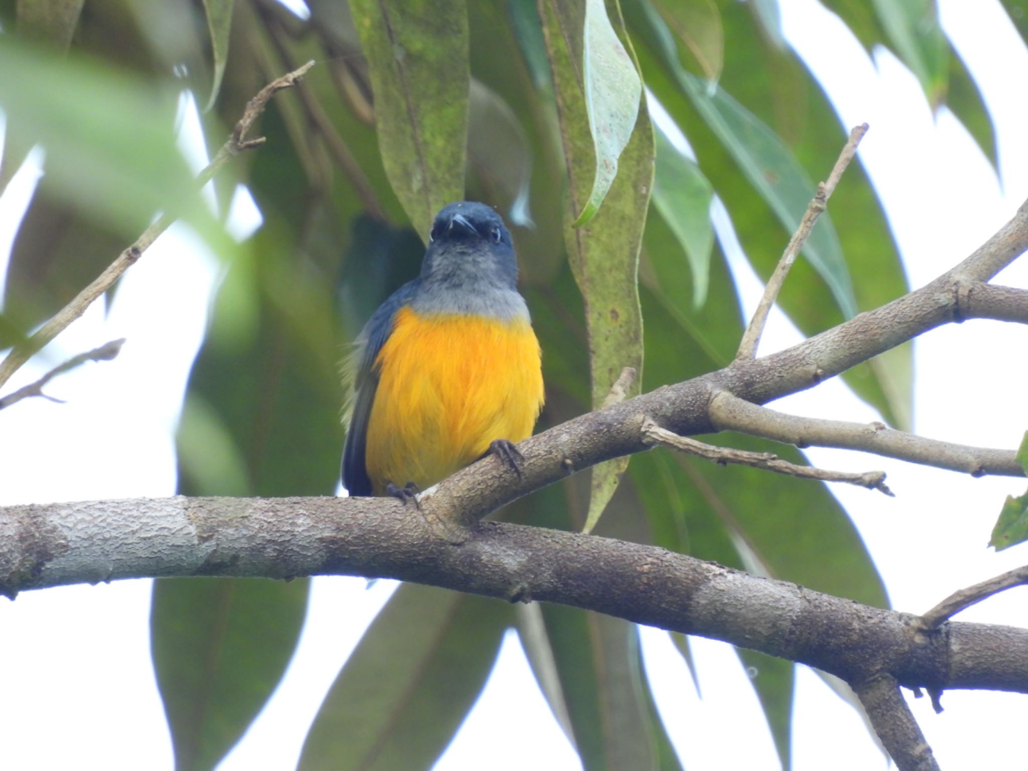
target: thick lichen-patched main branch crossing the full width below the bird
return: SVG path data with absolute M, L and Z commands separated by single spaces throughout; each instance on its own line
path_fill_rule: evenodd
M 480 522 L 449 543 L 424 512 L 391 499 L 177 497 L 0 509 L 0 591 L 8 596 L 147 576 L 308 575 L 585 608 L 763 651 L 851 684 L 884 672 L 908 687 L 1028 693 L 1023 629 L 947 622 L 926 631 L 909 614 L 578 533 Z

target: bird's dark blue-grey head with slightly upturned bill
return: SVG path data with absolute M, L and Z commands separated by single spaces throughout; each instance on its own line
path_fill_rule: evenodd
M 470 200 L 443 207 L 432 225 L 421 283 L 472 292 L 514 290 L 517 258 L 500 215 Z

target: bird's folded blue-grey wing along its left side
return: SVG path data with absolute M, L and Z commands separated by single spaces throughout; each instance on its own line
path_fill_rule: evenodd
M 419 280 L 407 282 L 371 315 L 357 338 L 357 346 L 343 364 L 343 382 L 350 383 L 350 428 L 342 450 L 342 485 L 351 495 L 371 495 L 371 479 L 364 453 L 368 444 L 368 420 L 378 388 L 375 359 L 393 331 L 396 311 L 417 291 Z

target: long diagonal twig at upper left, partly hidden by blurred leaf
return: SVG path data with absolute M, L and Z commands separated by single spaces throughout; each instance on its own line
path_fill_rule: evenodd
M 254 121 L 260 116 L 267 106 L 268 100 L 283 88 L 289 88 L 295 85 L 296 82 L 303 76 L 303 74 L 315 66 L 314 61 L 307 62 L 305 65 L 299 69 L 283 75 L 280 78 L 272 80 L 270 83 L 261 88 L 257 96 L 251 99 L 243 111 L 243 117 L 240 118 L 232 133 L 229 135 L 228 140 L 221 146 L 218 153 L 214 156 L 214 159 L 198 175 L 196 175 L 196 183 L 199 187 L 203 187 L 215 174 L 223 167 L 228 159 L 233 155 L 236 155 L 242 150 L 249 150 L 251 148 L 257 147 L 264 143 L 263 137 L 258 137 L 256 139 L 247 139 L 247 133 L 253 127 Z M 65 305 L 61 310 L 59 310 L 49 321 L 47 321 L 43 326 L 41 326 L 35 334 L 33 334 L 25 342 L 15 345 L 13 350 L 7 354 L 7 358 L 0 363 L 0 386 L 3 386 L 10 376 L 17 371 L 17 369 L 25 364 L 29 359 L 39 351 L 43 345 L 57 337 L 64 329 L 71 324 L 73 321 L 78 319 L 85 309 L 96 300 L 100 295 L 106 292 L 111 286 L 116 282 L 121 274 L 136 264 L 136 261 L 143 255 L 149 247 L 157 240 L 164 230 L 167 230 L 175 220 L 168 215 L 162 215 L 157 218 L 157 220 L 150 225 L 143 234 L 136 240 L 131 247 L 125 249 L 117 258 L 108 265 L 104 271 L 98 276 L 89 286 L 83 289 L 78 295 L 67 305 Z

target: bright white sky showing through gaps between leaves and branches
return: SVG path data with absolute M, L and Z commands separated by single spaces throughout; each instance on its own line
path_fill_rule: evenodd
M 1028 196 L 1023 99 L 1028 51 L 997 0 L 940 0 L 944 26 L 996 120 L 1000 185 L 952 116 L 945 110 L 935 117 L 929 113 L 916 80 L 893 57 L 880 51 L 869 60 L 814 0 L 783 0 L 782 6 L 786 36 L 818 73 L 842 119 L 847 125 L 871 124 L 859 157 L 887 208 L 912 285 L 923 285 L 988 237 Z M 188 152 L 198 127 L 188 110 L 184 116 Z M 26 167 L 0 198 L 0 262 L 36 176 Z M 248 196 L 237 196 L 234 206 L 238 221 L 253 221 Z M 846 213 L 833 210 L 833 216 Z M 752 305 L 760 285 L 734 262 Z M 4 393 L 69 356 L 128 338 L 116 361 L 87 365 L 53 381 L 49 392 L 68 404 L 36 399 L 0 412 L 5 439 L 0 504 L 174 492 L 173 432 L 216 276 L 213 258 L 174 228 L 124 277 L 106 317 L 98 302 L 46 356 L 23 368 Z M 1028 263 L 1015 264 L 998 281 L 1028 287 Z M 798 339 L 775 315 L 762 353 Z M 920 338 L 917 431 L 983 446 L 1017 446 L 1028 428 L 1026 340 L 1024 327 L 992 322 L 948 326 Z M 877 417 L 838 380 L 775 406 L 843 419 Z M 1003 497 L 1022 492 L 1023 480 L 975 480 L 842 450 L 809 454 L 828 468 L 889 473 L 896 499 L 844 485 L 834 491 L 859 527 L 898 610 L 927 610 L 954 589 L 1025 560 L 1024 547 L 998 555 L 985 548 Z M 390 582 L 371 589 L 365 583 L 315 580 L 304 634 L 286 678 L 222 771 L 295 765 L 321 698 L 392 591 Z M 1028 626 L 1025 592 L 1009 591 L 961 618 Z M 26 592 L 15 602 L 0 599 L 0 661 L 6 662 L 0 675 L 0 768 L 173 768 L 149 660 L 149 596 L 148 581 L 132 581 Z M 700 701 L 667 635 L 644 629 L 642 642 L 658 704 L 687 768 L 778 768 L 747 676 L 727 646 L 695 641 Z M 946 711 L 935 715 L 926 699 L 912 700 L 944 768 L 1024 765 L 1019 743 L 1002 740 L 1023 730 L 1024 696 L 950 692 L 943 703 Z M 856 713 L 802 667 L 794 739 L 796 769 L 886 767 Z M 477 769 L 483 758 L 492 769 L 580 768 L 513 635 L 436 769 Z

